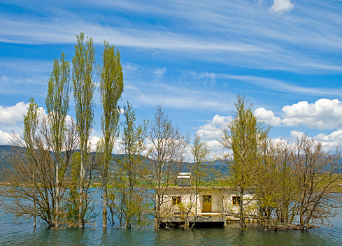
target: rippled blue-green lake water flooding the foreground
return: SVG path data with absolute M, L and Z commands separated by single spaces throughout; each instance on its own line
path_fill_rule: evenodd
M 101 200 L 94 195 L 99 212 Z M 15 220 L 0 211 L 0 245 L 342 245 L 342 218 L 334 217 L 334 227 L 322 226 L 308 231 L 240 231 L 238 224 L 226 228 L 182 230 L 117 229 L 101 227 L 101 215 L 85 229 L 50 229 L 45 222 Z

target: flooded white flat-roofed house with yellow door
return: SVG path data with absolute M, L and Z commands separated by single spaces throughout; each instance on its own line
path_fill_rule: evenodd
M 197 195 L 196 195 L 197 194 Z M 240 196 L 232 187 L 168 187 L 161 206 L 162 221 L 166 224 L 189 226 L 197 217 L 197 223 L 216 222 L 226 226 L 227 221 L 238 220 Z M 250 187 L 243 194 L 243 211 L 247 217 L 256 215 L 255 189 Z

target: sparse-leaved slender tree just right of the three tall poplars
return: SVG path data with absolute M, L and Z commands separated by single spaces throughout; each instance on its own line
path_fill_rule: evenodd
M 150 223 L 148 214 L 150 206 L 147 201 L 147 190 L 141 184 L 139 173 L 143 158 L 141 152 L 145 150 L 143 140 L 147 124 L 136 126 L 135 112 L 127 101 L 124 106 L 125 121 L 122 123 L 124 132 L 120 141 L 122 159 L 117 159 L 117 169 L 113 179 L 113 189 L 110 189 L 108 198 L 111 211 L 128 228 L 131 225 L 143 226 Z

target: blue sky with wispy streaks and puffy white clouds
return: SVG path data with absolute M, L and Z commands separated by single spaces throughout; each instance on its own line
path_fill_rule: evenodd
M 293 143 L 306 133 L 342 144 L 342 1 L 0 0 L 0 145 L 22 133 L 29 97 L 45 108 L 54 58 L 72 60 L 76 35 L 120 50 L 137 122 L 157 105 L 181 131 L 220 151 L 238 94 Z M 92 143 L 101 137 L 96 90 Z M 69 115 L 75 116 L 70 99 Z

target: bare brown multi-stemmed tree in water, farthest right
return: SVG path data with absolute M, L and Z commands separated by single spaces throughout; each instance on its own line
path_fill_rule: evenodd
M 329 222 L 341 208 L 341 196 L 334 194 L 342 171 L 341 152 L 334 154 L 322 150 L 322 143 L 305 134 L 297 138 L 292 154 L 298 190 L 297 211 L 300 229 L 308 229 L 310 222 Z

